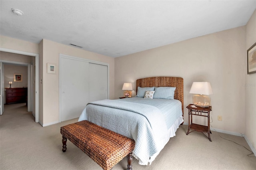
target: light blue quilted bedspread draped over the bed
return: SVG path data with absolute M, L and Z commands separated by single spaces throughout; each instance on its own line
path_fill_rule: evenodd
M 151 100 L 148 101 L 151 105 L 146 104 L 146 100 Z M 139 164 L 147 165 L 150 162 L 150 156 L 160 152 L 166 144 L 163 144 L 162 141 L 166 138 L 170 122 L 172 122 L 169 121 L 169 118 L 173 115 L 170 116 L 170 108 L 166 108 L 164 101 L 169 103 L 176 100 L 132 97 L 120 100 L 95 101 L 88 103 L 78 121 L 88 120 L 133 138 L 135 140 L 133 154 L 139 159 Z M 163 113 L 161 110 L 168 111 L 168 113 Z M 180 117 L 179 112 L 174 115 L 177 115 L 174 117 Z

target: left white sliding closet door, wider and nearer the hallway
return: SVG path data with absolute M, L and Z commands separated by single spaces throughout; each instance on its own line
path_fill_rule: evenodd
M 60 57 L 61 121 L 78 118 L 88 103 L 89 63 L 76 58 Z

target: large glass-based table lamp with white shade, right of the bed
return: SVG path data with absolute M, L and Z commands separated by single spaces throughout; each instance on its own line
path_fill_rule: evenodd
M 193 82 L 189 93 L 193 95 L 193 105 L 198 107 L 209 107 L 211 98 L 207 95 L 212 95 L 212 87 L 209 82 Z

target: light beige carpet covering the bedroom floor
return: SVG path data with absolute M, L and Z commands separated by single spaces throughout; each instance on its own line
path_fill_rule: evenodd
M 42 127 L 26 110 L 23 103 L 5 105 L 0 116 L 1 170 L 101 170 L 69 141 L 62 152 L 60 127 L 78 119 Z M 133 170 L 256 170 L 256 158 L 247 156 L 252 152 L 243 147 L 250 149 L 244 138 L 212 132 L 210 142 L 200 132 L 186 135 L 187 129 L 181 125 L 151 165 L 141 166 L 133 159 Z M 126 170 L 126 159 L 112 169 Z

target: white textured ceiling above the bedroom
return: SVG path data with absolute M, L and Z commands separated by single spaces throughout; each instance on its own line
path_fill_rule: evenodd
M 34 43 L 73 43 L 120 57 L 244 26 L 255 9 L 256 0 L 1 0 L 0 34 Z

